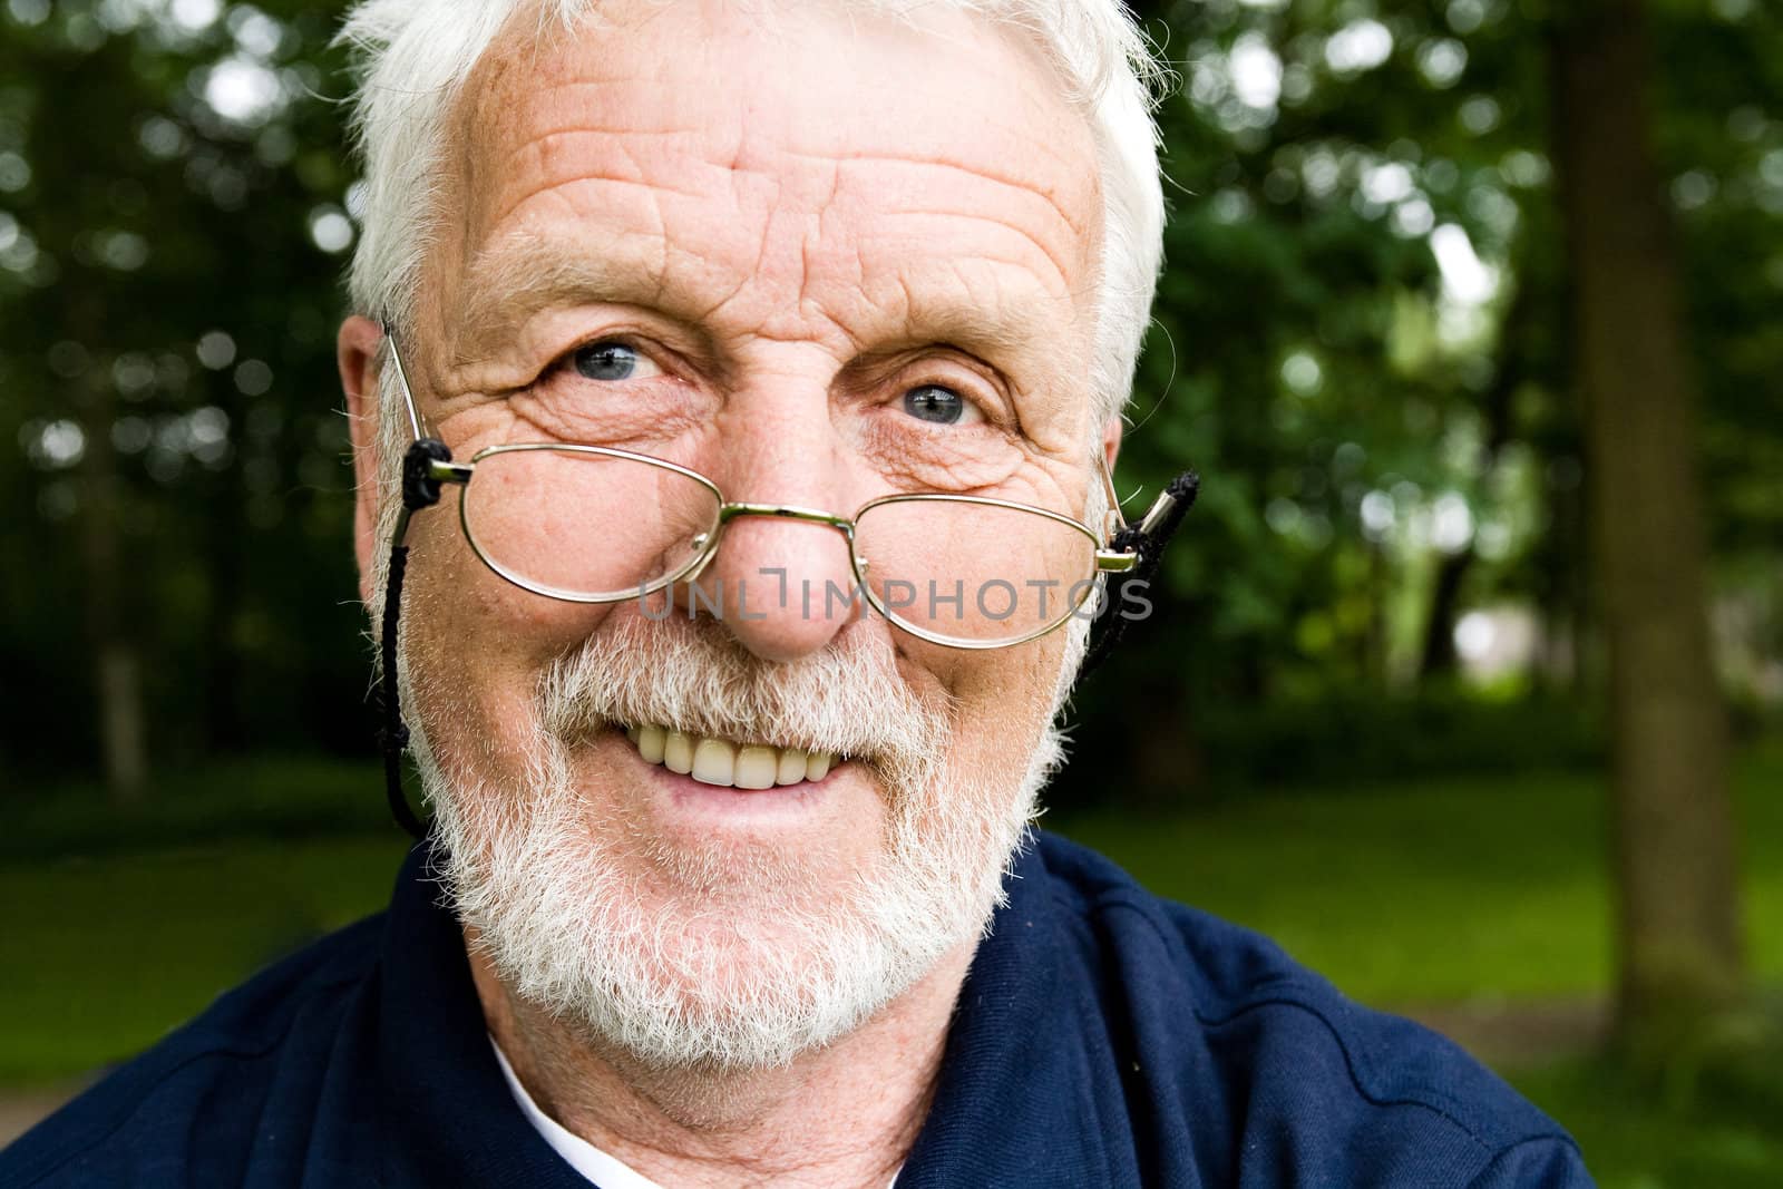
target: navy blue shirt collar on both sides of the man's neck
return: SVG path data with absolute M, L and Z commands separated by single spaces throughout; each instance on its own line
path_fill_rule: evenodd
M 929 1118 L 899 1189 L 988 1184 L 1032 1159 L 1034 1136 L 1100 1148 L 1095 1119 L 1057 1086 L 1070 1005 L 1048 993 L 1059 954 L 1057 907 L 1029 840 L 961 988 Z M 385 916 L 378 1075 L 389 1118 L 387 1166 L 424 1184 L 587 1189 L 526 1119 L 510 1093 L 464 934 L 430 861 L 415 845 Z M 1045 1171 L 1045 1169 L 1041 1169 Z

